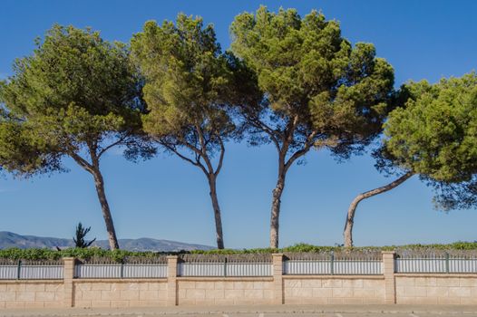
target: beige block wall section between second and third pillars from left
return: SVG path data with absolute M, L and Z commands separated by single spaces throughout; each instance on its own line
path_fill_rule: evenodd
M 274 303 L 273 278 L 178 278 L 179 305 Z

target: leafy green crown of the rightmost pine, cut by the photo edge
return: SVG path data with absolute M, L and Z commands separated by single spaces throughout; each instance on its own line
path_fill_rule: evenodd
M 389 114 L 385 149 L 400 168 L 436 181 L 462 182 L 477 171 L 477 75 L 411 82 L 410 98 Z

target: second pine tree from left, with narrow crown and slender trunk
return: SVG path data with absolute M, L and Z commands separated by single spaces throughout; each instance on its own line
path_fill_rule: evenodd
M 249 72 L 232 55 L 221 53 L 212 25 L 204 26 L 200 17 L 179 14 L 175 24 L 147 22 L 131 49 L 146 80 L 144 130 L 205 174 L 222 249 L 217 178 L 225 143 L 238 137 L 229 106 L 260 98 L 253 77 L 247 78 Z

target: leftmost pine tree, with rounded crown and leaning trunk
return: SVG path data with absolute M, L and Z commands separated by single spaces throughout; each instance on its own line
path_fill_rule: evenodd
M 117 249 L 100 160 L 113 147 L 128 158 L 153 153 L 141 137 L 141 78 L 127 47 L 89 29 L 54 25 L 31 56 L 16 60 L 14 72 L 0 86 L 0 101 L 55 161 L 68 156 L 92 175 L 110 247 Z

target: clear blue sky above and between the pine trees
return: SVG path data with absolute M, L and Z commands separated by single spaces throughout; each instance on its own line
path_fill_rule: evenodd
M 24 1 L 0 6 L 0 76 L 11 74 L 16 57 L 34 49 L 34 38 L 54 23 L 91 26 L 108 40 L 128 42 L 147 20 L 199 14 L 216 27 L 228 48 L 229 24 L 236 14 L 296 7 L 300 14 L 321 9 L 340 21 L 355 42 L 375 43 L 395 69 L 396 85 L 408 80 L 436 82 L 461 76 L 477 65 L 477 2 L 467 1 Z M 71 237 L 78 221 L 105 238 L 92 178 L 72 161 L 71 172 L 18 181 L 0 179 L 0 231 Z M 154 237 L 214 245 L 206 179 L 198 168 L 167 155 L 133 164 L 112 153 L 102 161 L 106 191 L 119 237 Z M 268 245 L 271 190 L 277 153 L 269 146 L 228 144 L 219 176 L 228 247 Z M 337 164 L 326 152 L 311 151 L 307 165 L 288 173 L 282 199 L 280 245 L 342 242 L 346 209 L 361 191 L 385 184 L 368 156 Z M 417 178 L 365 201 L 355 219 L 356 245 L 446 243 L 477 240 L 475 210 L 433 210 L 432 192 Z

